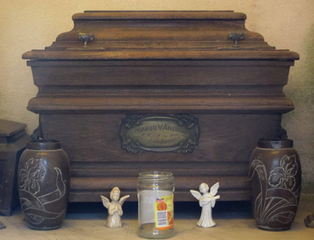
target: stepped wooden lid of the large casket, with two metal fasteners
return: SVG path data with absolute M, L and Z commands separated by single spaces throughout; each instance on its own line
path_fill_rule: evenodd
M 244 13 L 233 11 L 85 11 L 73 15 L 71 31 L 45 50 L 24 53 L 23 59 L 299 59 L 248 31 L 245 20 Z M 79 40 L 82 33 L 94 34 L 94 40 L 85 46 Z

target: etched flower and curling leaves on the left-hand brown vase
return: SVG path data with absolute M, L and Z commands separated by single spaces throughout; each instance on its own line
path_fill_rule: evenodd
M 55 202 L 66 193 L 66 184 L 62 179 L 61 170 L 54 167 L 57 172 L 56 190 L 45 195 L 37 196 L 40 193 L 40 181 L 45 180 L 47 173 L 43 159 L 29 159 L 25 163 L 24 168 L 19 172 L 19 194 L 21 207 L 24 216 L 34 225 L 38 225 L 45 219 L 58 218 L 64 211 L 59 213 L 47 211 L 45 204 Z

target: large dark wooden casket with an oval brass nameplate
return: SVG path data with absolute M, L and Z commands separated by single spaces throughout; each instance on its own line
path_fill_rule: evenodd
M 37 135 L 63 143 L 70 202 L 98 202 L 118 186 L 137 200 L 139 172 L 174 174 L 175 200 L 220 182 L 220 200 L 249 200 L 248 160 L 278 137 L 290 66 L 232 11 L 73 15 L 72 31 L 23 55 L 39 91 Z

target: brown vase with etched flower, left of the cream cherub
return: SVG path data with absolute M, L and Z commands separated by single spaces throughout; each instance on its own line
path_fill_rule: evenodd
M 70 164 L 61 143 L 27 142 L 18 172 L 20 204 L 29 227 L 33 230 L 61 227 L 70 191 Z

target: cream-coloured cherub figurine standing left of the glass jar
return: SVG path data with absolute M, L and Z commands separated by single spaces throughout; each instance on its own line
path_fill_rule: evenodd
M 121 223 L 121 216 L 124 213 L 122 211 L 122 204 L 124 204 L 124 201 L 130 197 L 130 195 L 126 195 L 124 197 L 120 198 L 120 189 L 115 187 L 112 188 L 110 192 L 110 199 L 112 202 L 110 202 L 107 197 L 101 196 L 101 200 L 103 201 L 103 206 L 108 209 L 108 218 L 106 227 L 110 228 L 116 228 L 116 227 L 122 227 Z

